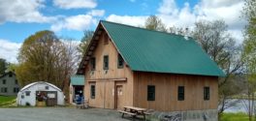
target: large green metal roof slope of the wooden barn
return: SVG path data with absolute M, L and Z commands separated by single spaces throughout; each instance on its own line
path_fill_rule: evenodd
M 132 71 L 225 76 L 192 38 L 100 21 Z

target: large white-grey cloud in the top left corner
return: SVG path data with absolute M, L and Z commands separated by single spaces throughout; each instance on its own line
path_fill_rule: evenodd
M 42 15 L 44 0 L 0 0 L 0 23 L 38 22 L 46 23 L 56 20 L 53 16 Z

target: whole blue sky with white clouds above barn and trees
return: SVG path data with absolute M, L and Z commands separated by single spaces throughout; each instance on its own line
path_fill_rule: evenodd
M 143 26 L 149 15 L 167 27 L 189 29 L 199 20 L 222 19 L 241 44 L 242 6 L 242 0 L 0 0 L 0 58 L 17 63 L 18 48 L 37 31 L 80 41 L 83 31 L 94 31 L 101 19 Z

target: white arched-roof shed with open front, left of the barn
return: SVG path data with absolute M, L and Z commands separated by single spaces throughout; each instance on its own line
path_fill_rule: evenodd
M 64 94 L 53 84 L 44 81 L 30 83 L 17 93 L 18 106 L 63 106 Z

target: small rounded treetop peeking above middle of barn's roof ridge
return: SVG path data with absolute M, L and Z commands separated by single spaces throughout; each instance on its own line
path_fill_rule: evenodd
M 156 30 L 156 31 L 162 31 L 167 32 L 167 29 L 165 27 L 165 24 L 162 22 L 162 20 L 157 17 L 156 15 L 150 15 L 146 18 L 144 27 L 149 30 Z

